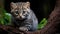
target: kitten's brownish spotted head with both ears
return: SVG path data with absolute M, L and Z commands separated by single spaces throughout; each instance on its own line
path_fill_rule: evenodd
M 11 13 L 16 19 L 25 19 L 28 17 L 30 12 L 30 3 L 29 2 L 11 2 Z

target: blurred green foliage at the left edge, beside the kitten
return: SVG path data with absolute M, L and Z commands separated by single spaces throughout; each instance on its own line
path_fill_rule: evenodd
M 0 24 L 8 25 L 8 23 L 11 23 L 11 14 L 7 13 L 3 8 L 0 8 Z

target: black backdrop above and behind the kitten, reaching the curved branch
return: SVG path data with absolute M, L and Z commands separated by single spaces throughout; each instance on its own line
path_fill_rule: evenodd
M 55 0 L 5 0 L 5 9 L 7 12 L 10 12 L 10 3 L 11 2 L 26 2 L 31 3 L 31 9 L 36 14 L 39 22 L 43 18 L 48 18 L 49 14 L 55 7 Z M 44 6 L 46 9 L 44 9 Z

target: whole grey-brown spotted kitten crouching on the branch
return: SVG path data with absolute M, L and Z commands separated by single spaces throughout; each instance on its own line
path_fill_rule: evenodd
M 12 22 L 22 31 L 36 31 L 38 20 L 29 2 L 11 2 Z

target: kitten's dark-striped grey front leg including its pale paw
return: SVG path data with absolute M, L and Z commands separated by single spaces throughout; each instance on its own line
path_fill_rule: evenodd
M 32 20 L 26 20 L 23 23 L 24 26 L 19 27 L 20 30 L 22 31 L 29 31 L 32 28 Z

